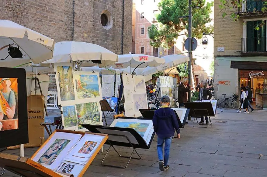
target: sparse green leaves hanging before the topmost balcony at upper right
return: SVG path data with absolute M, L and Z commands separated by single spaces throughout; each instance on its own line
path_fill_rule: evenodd
M 267 1 L 265 0 L 251 0 L 251 2 L 261 1 L 262 2 L 262 8 L 260 10 L 257 10 L 256 8 L 253 9 L 253 13 L 262 13 L 267 11 Z M 231 18 L 233 18 L 234 21 L 238 21 L 240 18 L 240 15 L 238 15 L 237 10 L 238 8 L 242 8 L 242 4 L 246 3 L 246 0 L 220 0 L 219 8 L 222 13 L 222 17 L 224 18 L 226 15 L 230 15 Z M 235 12 L 231 12 L 231 14 L 227 14 L 225 10 L 227 9 L 236 9 Z M 245 13 L 245 12 L 244 12 Z M 255 30 L 259 30 L 261 25 L 265 25 L 264 21 L 258 25 L 255 26 Z

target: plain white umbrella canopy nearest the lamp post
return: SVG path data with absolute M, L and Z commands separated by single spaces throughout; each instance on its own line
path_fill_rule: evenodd
M 142 75 L 156 74 L 159 71 L 167 70 L 172 67 L 177 67 L 177 65 L 189 61 L 189 57 L 184 56 L 184 55 L 178 55 L 178 54 L 166 55 L 162 58 L 165 59 L 164 64 L 161 64 L 158 67 L 146 67 L 141 74 Z

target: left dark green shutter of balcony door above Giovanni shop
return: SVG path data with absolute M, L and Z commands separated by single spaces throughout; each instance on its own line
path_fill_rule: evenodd
M 247 52 L 252 52 L 255 51 L 255 26 L 254 26 L 255 21 L 248 21 L 247 22 Z

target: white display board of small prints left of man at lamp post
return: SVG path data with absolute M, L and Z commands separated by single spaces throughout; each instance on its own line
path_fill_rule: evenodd
M 173 84 L 173 77 L 170 76 L 159 76 L 158 87 L 160 89 L 160 94 L 158 98 L 161 98 L 164 95 L 170 97 L 170 107 L 176 108 L 176 97 L 175 97 L 175 87 Z M 158 90 L 159 91 L 159 90 Z

